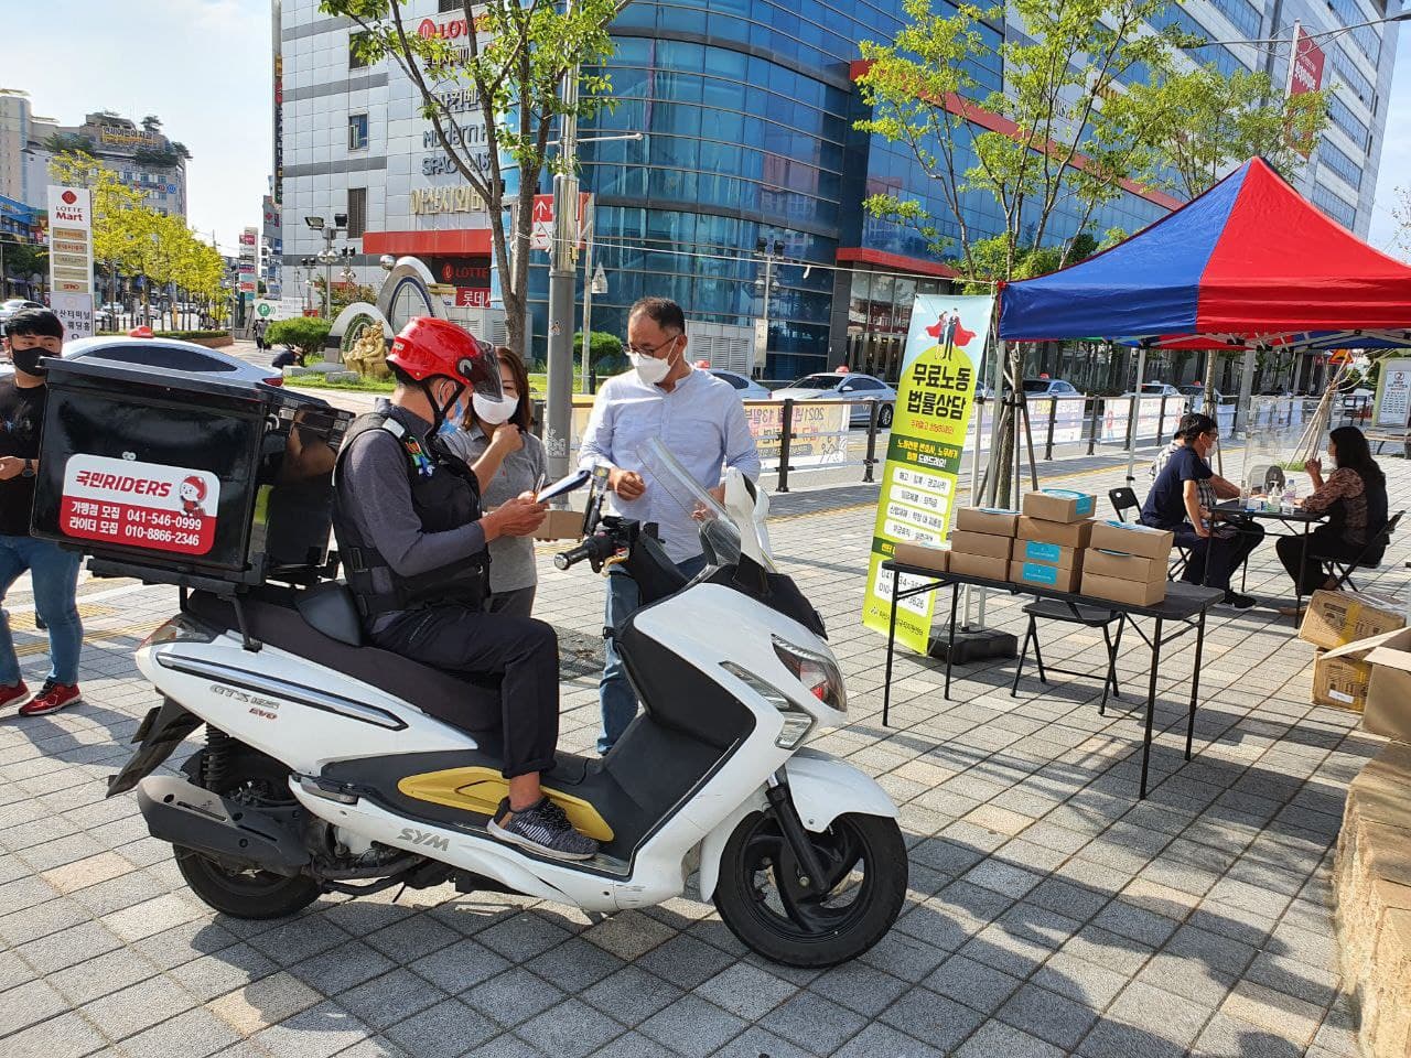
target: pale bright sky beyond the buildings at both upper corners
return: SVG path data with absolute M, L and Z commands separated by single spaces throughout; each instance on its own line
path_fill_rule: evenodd
M 7 4 L 11 47 L 0 87 L 25 89 L 35 113 L 76 124 L 93 110 L 133 118 L 158 114 L 190 148 L 189 216 L 234 253 L 246 224 L 260 223 L 271 169 L 268 0 L 109 0 Z M 1397 183 L 1411 185 L 1411 23 L 1401 31 L 1387 102 L 1371 241 L 1386 248 Z

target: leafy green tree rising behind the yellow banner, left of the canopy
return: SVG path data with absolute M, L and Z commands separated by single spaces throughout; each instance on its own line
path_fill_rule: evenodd
M 930 0 L 903 0 L 906 24 L 895 39 L 861 44 L 871 65 L 858 85 L 872 116 L 856 127 L 903 145 L 945 213 L 933 216 L 902 195 L 873 195 L 866 209 L 914 229 L 937 257 L 952 257 L 975 279 L 1067 264 L 1078 240 L 1047 248 L 1060 210 L 1085 231 L 1098 207 L 1151 165 L 1136 107 L 1109 110 L 1103 102 L 1141 71 L 1164 69 L 1175 47 L 1189 42 L 1175 30 L 1149 31 L 1163 7 L 1164 0 L 1010 0 L 989 11 L 962 3 L 937 13 Z M 992 48 L 985 24 L 1006 18 L 1023 32 Z M 975 79 L 972 71 L 983 66 L 1003 69 L 1002 90 Z M 1006 131 L 972 123 L 976 106 Z M 965 199 L 976 193 L 992 200 L 998 234 L 972 227 Z M 1020 347 L 1010 346 L 1005 375 L 1016 389 L 1022 370 Z M 1015 463 L 1013 418 L 1005 423 L 989 482 L 998 497 L 1009 494 Z

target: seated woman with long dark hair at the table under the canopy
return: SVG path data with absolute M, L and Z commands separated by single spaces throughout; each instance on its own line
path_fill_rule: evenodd
M 1309 535 L 1307 559 L 1302 540 L 1283 536 L 1274 546 L 1278 560 L 1298 585 L 1300 595 L 1331 588 L 1336 581 L 1324 573 L 1324 559 L 1356 560 L 1367 542 L 1387 523 L 1387 477 L 1371 458 L 1367 439 L 1356 426 L 1339 426 L 1328 434 L 1328 454 L 1338 468 L 1324 481 L 1322 460 L 1308 460 L 1312 495 L 1301 501 L 1304 511 L 1326 513 L 1328 522 Z M 1294 608 L 1280 611 L 1294 616 Z

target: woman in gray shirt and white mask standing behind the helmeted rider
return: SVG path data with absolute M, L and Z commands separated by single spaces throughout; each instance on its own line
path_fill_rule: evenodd
M 499 358 L 504 398 L 490 401 L 476 394 L 459 425 L 447 422 L 442 427 L 446 446 L 468 464 L 485 454 L 501 454 L 499 468 L 492 471 L 490 482 L 481 490 L 481 502 L 487 509 L 533 491 L 549 471 L 543 442 L 529 432 L 533 419 L 525 361 L 504 346 L 495 348 L 495 355 Z M 485 466 L 481 464 L 480 470 Z M 501 536 L 490 542 L 490 612 L 529 616 L 538 583 L 533 537 Z

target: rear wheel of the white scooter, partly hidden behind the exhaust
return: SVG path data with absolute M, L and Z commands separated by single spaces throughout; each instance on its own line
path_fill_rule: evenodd
M 289 793 L 289 770 L 271 758 L 241 753 L 229 767 L 229 779 L 219 793 L 254 807 L 295 804 Z M 200 774 L 198 767 L 196 774 Z M 284 918 L 319 899 L 322 889 L 305 876 L 286 877 L 254 868 L 227 868 L 195 849 L 172 849 L 176 869 L 186 884 L 206 904 L 234 918 Z

